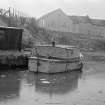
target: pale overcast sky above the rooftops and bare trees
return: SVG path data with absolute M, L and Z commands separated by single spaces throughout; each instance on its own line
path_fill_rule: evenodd
M 61 8 L 67 15 L 105 19 L 105 0 L 1 0 L 0 8 L 13 7 L 36 18 Z

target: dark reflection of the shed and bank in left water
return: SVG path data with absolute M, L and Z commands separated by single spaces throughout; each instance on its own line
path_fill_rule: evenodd
M 10 70 L 0 72 L 0 100 L 19 96 L 20 80 L 18 73 Z

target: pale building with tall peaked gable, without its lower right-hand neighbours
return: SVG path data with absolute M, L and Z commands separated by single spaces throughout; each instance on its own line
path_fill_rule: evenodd
M 61 9 L 57 9 L 38 19 L 38 25 L 40 27 L 52 31 L 71 32 L 72 24 L 72 20 Z

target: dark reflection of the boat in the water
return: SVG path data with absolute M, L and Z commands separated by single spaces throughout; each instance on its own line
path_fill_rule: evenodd
M 78 87 L 80 71 L 72 71 L 57 74 L 28 73 L 28 84 L 35 85 L 35 91 L 41 93 L 66 94 Z M 32 86 L 31 85 L 31 86 Z

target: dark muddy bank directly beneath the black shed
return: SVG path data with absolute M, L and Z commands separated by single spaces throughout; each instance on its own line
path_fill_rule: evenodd
M 19 51 L 0 50 L 0 69 L 28 68 L 28 57 Z

